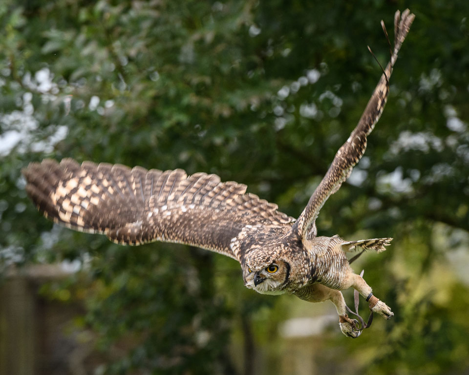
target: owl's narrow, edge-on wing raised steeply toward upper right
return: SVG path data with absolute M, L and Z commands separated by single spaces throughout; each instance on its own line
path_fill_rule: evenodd
M 402 16 L 399 11 L 394 15 L 394 50 L 392 51 L 391 59 L 384 69 L 383 75 L 366 105 L 358 125 L 350 134 L 347 142 L 337 151 L 326 175 L 309 199 L 308 205 L 298 217 L 293 229 L 296 230 L 301 237 L 305 235 L 316 235 L 315 220 L 318 217 L 322 205 L 330 195 L 339 190 L 341 184 L 350 176 L 352 168 L 362 158 L 366 148 L 366 136 L 371 133 L 375 124 L 381 117 L 389 93 L 389 77 L 391 76 L 394 63 L 397 60 L 399 49 L 409 32 L 410 25 L 414 18 L 415 15 L 410 13 L 408 9 L 402 13 Z M 382 25 L 384 29 L 383 21 Z

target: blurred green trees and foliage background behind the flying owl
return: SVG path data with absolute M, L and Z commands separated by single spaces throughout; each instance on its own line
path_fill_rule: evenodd
M 394 237 L 354 263 L 395 313 L 260 295 L 232 259 L 52 225 L 43 158 L 204 171 L 297 217 L 416 15 L 365 156 L 318 232 Z M 0 2 L 0 373 L 469 374 L 468 1 Z M 349 306 L 352 291 L 344 292 Z M 362 300 L 361 313 L 367 316 Z

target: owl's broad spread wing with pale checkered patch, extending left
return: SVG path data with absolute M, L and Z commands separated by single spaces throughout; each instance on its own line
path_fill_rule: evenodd
M 243 228 L 295 221 L 277 205 L 245 194 L 245 185 L 220 182 L 214 174 L 80 165 L 72 159 L 46 159 L 22 172 L 27 193 L 46 217 L 120 244 L 177 242 L 239 260 L 230 244 Z

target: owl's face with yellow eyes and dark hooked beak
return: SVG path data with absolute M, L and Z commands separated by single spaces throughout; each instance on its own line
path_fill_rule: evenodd
M 246 262 L 243 267 L 244 285 L 261 294 L 282 294 L 290 276 L 290 265 L 284 260 L 266 263 Z

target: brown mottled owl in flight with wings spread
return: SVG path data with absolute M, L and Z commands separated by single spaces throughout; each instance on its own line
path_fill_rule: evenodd
M 389 77 L 414 17 L 408 9 L 402 15 L 396 12 L 391 59 L 358 125 L 296 220 L 277 211 L 277 205 L 246 193 L 245 185 L 220 182 L 214 174 L 188 176 L 182 169 L 46 159 L 23 170 L 26 191 L 46 217 L 65 227 L 103 233 L 119 244 L 164 241 L 212 250 L 236 259 L 244 285 L 256 292 L 295 294 L 310 302 L 331 300 L 342 333 L 357 337 L 361 330 L 347 315 L 342 290 L 354 288 L 372 312 L 386 319 L 393 312 L 352 271 L 347 253 L 381 252 L 391 238 L 344 241 L 337 235 L 318 236 L 315 221 L 365 151 L 366 136 L 383 112 Z

